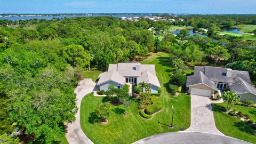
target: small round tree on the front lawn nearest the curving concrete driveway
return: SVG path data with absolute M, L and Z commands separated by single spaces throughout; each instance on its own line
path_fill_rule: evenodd
M 106 120 L 110 113 L 110 104 L 108 102 L 98 103 L 97 108 L 95 109 L 95 115 L 98 119 Z

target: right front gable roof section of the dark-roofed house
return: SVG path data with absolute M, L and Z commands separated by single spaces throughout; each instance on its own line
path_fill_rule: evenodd
M 234 78 L 234 82 L 228 84 L 229 89 L 237 94 L 249 93 L 256 95 L 256 88 L 250 83 L 247 83 L 241 77 Z

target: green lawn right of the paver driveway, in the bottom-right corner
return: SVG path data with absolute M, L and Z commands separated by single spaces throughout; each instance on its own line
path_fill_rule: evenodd
M 218 106 L 227 106 L 226 103 L 213 103 L 213 115 L 217 128 L 230 137 L 256 143 L 256 132 L 253 131 L 247 122 L 243 122 L 238 118 L 223 113 Z M 250 115 L 251 119 L 256 120 L 256 108 L 243 106 L 230 106 L 231 109 L 242 111 L 243 114 Z

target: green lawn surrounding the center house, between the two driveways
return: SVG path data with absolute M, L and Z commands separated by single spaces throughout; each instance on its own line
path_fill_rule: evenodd
M 170 80 L 168 74 L 172 70 L 169 65 L 169 55 L 166 53 L 154 53 L 149 60 L 143 64 L 155 64 L 156 73 L 162 86 L 163 110 L 150 120 L 139 116 L 138 102 L 133 102 L 128 110 L 129 117 L 124 118 L 121 106 L 111 106 L 109 123 L 101 125 L 90 121 L 90 114 L 94 112 L 97 103 L 102 102 L 103 97 L 93 97 L 88 94 L 83 98 L 81 104 L 81 127 L 84 133 L 94 143 L 132 143 L 150 135 L 179 131 L 180 128 L 187 129 L 190 125 L 190 97 L 181 93 L 177 98 L 167 93 L 165 86 Z M 174 129 L 169 129 L 171 124 L 172 108 L 174 106 Z M 159 122 L 159 123 L 158 123 Z

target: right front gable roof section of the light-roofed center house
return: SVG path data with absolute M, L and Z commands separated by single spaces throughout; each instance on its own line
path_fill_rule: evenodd
M 137 78 L 137 84 L 141 82 L 145 82 L 151 85 L 155 85 L 157 87 L 161 87 L 158 81 L 158 78 L 155 75 L 151 74 L 149 71 L 142 73 L 142 75 Z

